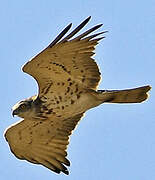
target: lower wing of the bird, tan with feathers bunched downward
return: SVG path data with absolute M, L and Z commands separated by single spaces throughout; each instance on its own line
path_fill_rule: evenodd
M 5 138 L 17 158 L 69 174 L 66 149 L 69 136 L 82 116 L 54 121 L 22 120 L 7 129 Z

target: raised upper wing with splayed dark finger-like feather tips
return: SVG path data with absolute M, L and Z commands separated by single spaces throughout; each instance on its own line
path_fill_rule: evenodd
M 87 24 L 89 19 L 90 17 L 60 41 L 70 29 L 71 24 L 68 25 L 46 49 L 23 66 L 23 71 L 37 80 L 39 96 L 46 94 L 46 97 L 50 97 L 53 91 L 56 94 L 60 87 L 69 83 L 68 81 L 76 82 L 81 87 L 96 89 L 100 72 L 91 56 L 94 54 L 93 50 L 98 41 L 104 38 L 95 37 L 104 32 L 87 35 L 97 30 L 102 24 L 71 39 Z M 50 92 L 51 89 L 52 92 Z

